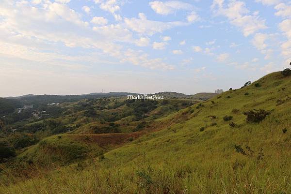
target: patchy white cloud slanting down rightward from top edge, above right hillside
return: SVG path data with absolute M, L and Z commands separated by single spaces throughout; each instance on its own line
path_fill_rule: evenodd
M 264 19 L 257 15 L 246 15 L 250 11 L 242 1 L 231 0 L 225 6 L 224 0 L 213 0 L 211 9 L 216 15 L 226 16 L 232 25 L 242 30 L 244 36 L 249 36 L 258 30 L 267 28 Z

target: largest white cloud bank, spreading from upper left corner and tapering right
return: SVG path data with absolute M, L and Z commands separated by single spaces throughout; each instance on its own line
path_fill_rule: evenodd
M 0 47 L 0 54 L 13 56 L 17 60 L 48 61 L 46 63 L 58 66 L 62 65 L 64 60 L 77 60 L 81 63 L 87 61 L 82 60 L 84 52 L 77 52 L 74 57 L 67 56 L 67 52 L 63 55 L 57 54 L 62 53 L 58 45 L 65 45 L 78 46 L 83 49 L 82 51 L 90 48 L 89 53 L 85 54 L 90 55 L 90 63 L 93 61 L 96 64 L 110 64 L 119 60 L 150 69 L 174 69 L 173 65 L 160 58 L 150 58 L 148 54 L 139 50 L 129 52 L 120 45 L 120 43 L 139 44 L 124 25 L 89 28 L 88 23 L 82 20 L 81 14 L 66 4 L 54 2 L 38 8 L 31 7 L 29 3 L 14 6 L 13 3 L 4 1 L 0 4 L 0 17 L 3 18 L 0 20 L 0 45 L 4 45 Z M 145 39 L 139 41 L 144 44 L 146 42 Z M 10 42 L 13 44 L 7 45 Z M 14 51 L 8 49 L 9 47 Z M 99 60 L 102 58 L 107 60 Z

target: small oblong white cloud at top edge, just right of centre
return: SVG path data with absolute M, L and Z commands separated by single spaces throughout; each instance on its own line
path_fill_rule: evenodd
M 170 0 L 170 1 L 151 1 L 149 2 L 151 8 L 160 15 L 169 15 L 175 13 L 177 10 L 193 10 L 193 5 L 189 3 L 184 3 L 178 0 Z

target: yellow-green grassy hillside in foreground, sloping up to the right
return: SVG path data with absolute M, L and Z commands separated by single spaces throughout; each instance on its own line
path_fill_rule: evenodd
M 8 173 L 0 193 L 289 194 L 290 107 L 291 76 L 266 75 L 163 115 L 150 132 L 98 157 L 46 175 L 34 170 L 31 179 Z

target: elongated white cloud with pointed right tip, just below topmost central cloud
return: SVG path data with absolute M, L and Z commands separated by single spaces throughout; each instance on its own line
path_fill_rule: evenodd
M 144 13 L 139 13 L 138 18 L 125 18 L 125 25 L 133 31 L 136 31 L 141 34 L 153 35 L 155 33 L 162 33 L 164 30 L 168 30 L 178 26 L 188 25 L 183 22 L 160 22 L 160 21 L 152 21 L 147 20 L 146 15 Z

